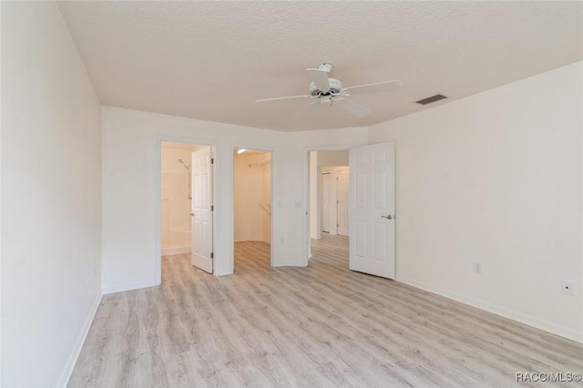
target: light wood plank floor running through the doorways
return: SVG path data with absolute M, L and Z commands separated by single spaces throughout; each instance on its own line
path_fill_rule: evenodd
M 581 386 L 517 372 L 583 372 L 583 345 L 348 270 L 348 241 L 312 242 L 308 268 L 239 242 L 235 274 L 164 257 L 162 285 L 106 295 L 69 387 Z

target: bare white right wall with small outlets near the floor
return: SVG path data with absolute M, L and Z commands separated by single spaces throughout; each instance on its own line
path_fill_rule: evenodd
M 583 341 L 582 75 L 579 62 L 370 129 L 396 146 L 398 281 Z

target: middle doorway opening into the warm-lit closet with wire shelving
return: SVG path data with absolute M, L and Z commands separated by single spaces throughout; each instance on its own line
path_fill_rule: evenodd
M 271 151 L 233 149 L 234 271 L 272 265 Z

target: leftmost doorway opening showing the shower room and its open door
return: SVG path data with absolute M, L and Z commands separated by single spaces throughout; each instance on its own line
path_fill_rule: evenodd
M 184 260 L 213 272 L 214 148 L 160 144 L 162 260 Z

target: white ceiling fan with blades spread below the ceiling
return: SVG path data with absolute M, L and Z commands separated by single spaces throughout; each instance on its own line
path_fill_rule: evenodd
M 328 106 L 339 107 L 343 111 L 350 113 L 356 117 L 364 117 L 371 113 L 367 107 L 360 106 L 345 97 L 363 95 L 367 93 L 388 92 L 402 87 L 401 81 L 383 81 L 374 84 L 358 85 L 356 87 L 343 87 L 343 84 L 336 78 L 328 77 L 332 71 L 332 65 L 324 63 L 316 68 L 307 68 L 308 77 L 312 81 L 308 87 L 310 94 L 305 96 L 289 96 L 289 97 L 275 97 L 262 98 L 255 102 L 275 101 L 281 99 L 292 98 L 312 98 L 315 101 L 312 105 L 322 104 Z

